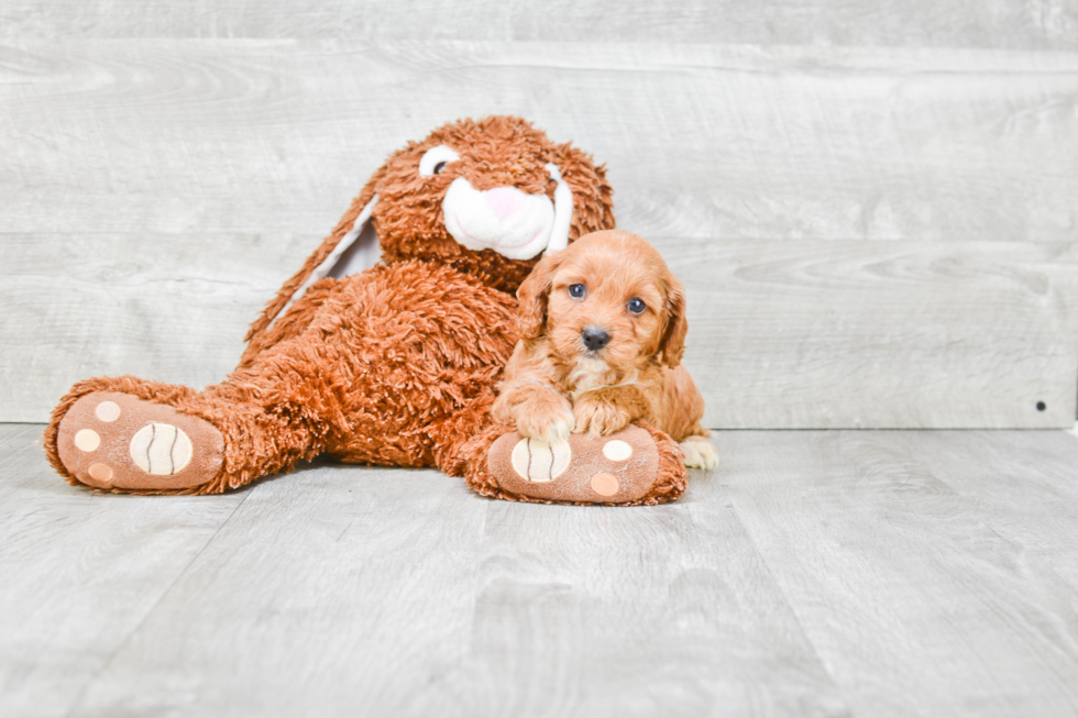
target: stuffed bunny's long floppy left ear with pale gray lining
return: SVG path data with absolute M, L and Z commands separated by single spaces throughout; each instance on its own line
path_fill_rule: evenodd
M 378 238 L 371 225 L 371 216 L 378 203 L 375 188 L 385 174 L 378 169 L 366 184 L 360 196 L 352 200 L 351 207 L 338 222 L 333 232 L 322 240 L 321 245 L 307 257 L 299 272 L 277 290 L 262 314 L 254 320 L 244 341 L 249 344 L 273 325 L 274 320 L 284 316 L 287 309 L 324 277 L 342 277 L 365 269 L 377 261 Z

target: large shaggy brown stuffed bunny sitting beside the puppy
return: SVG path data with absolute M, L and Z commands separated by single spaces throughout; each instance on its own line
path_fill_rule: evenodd
M 680 454 L 650 429 L 630 427 L 661 459 L 642 494 L 531 496 L 485 470 L 512 431 L 490 418 L 517 340 L 512 292 L 544 250 L 613 228 L 610 194 L 603 167 L 521 119 L 439 128 L 374 174 L 254 322 L 226 382 L 80 382 L 53 411 L 45 452 L 68 483 L 121 493 L 216 494 L 328 453 L 452 475 L 471 464 L 470 484 L 504 498 L 675 498 Z M 374 242 L 382 263 L 364 268 Z

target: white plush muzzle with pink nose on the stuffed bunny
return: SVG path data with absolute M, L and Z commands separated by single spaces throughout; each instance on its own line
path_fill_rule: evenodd
M 573 196 L 558 167 L 548 164 L 547 169 L 558 183 L 553 202 L 546 195 L 528 195 L 516 187 L 481 191 L 458 177 L 442 200 L 446 229 L 469 250 L 494 250 L 510 259 L 565 248 Z

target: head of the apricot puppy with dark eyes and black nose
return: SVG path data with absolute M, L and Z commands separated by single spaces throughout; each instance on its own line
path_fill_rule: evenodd
M 628 232 L 595 232 L 544 258 L 520 299 L 521 317 L 539 320 L 524 333 L 544 332 L 570 363 L 627 368 L 652 357 L 674 366 L 681 358 L 688 329 L 681 285 L 659 253 Z

